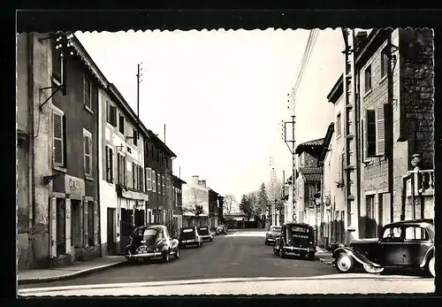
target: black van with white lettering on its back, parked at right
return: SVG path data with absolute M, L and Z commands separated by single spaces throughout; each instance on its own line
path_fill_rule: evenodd
M 273 252 L 279 257 L 286 254 L 297 254 L 300 257 L 315 259 L 315 229 L 305 223 L 287 223 L 281 226 L 281 232 L 273 245 Z

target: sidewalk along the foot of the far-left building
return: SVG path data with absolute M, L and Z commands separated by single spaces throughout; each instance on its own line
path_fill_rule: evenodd
M 67 280 L 92 272 L 99 272 L 110 267 L 126 263 L 124 256 L 106 256 L 93 260 L 78 262 L 65 267 L 48 269 L 26 269 L 18 273 L 19 285 L 48 282 L 54 280 Z

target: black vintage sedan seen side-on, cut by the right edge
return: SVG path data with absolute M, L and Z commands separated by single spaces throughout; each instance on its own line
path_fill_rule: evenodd
M 420 268 L 435 276 L 432 219 L 403 220 L 385 225 L 378 238 L 354 240 L 333 251 L 338 272 L 362 266 L 365 272 L 385 268 Z

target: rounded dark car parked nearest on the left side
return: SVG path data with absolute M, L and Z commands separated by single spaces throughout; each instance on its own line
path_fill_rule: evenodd
M 162 258 L 166 263 L 171 255 L 179 258 L 179 241 L 169 235 L 166 226 L 139 226 L 130 238 L 131 242 L 126 246 L 128 261 Z

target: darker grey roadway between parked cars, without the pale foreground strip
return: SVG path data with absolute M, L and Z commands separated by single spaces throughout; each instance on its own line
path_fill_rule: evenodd
M 336 273 L 331 265 L 296 257 L 281 259 L 264 245 L 264 232 L 230 230 L 205 242 L 201 249 L 180 249 L 179 259 L 168 264 L 124 265 L 74 280 L 23 285 L 19 288 L 58 287 L 162 280 L 208 278 L 311 277 Z

